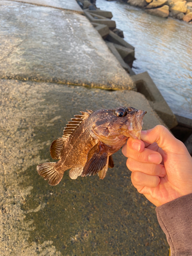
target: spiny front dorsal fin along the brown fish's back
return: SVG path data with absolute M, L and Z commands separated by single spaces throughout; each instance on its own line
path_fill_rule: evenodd
M 80 111 L 82 115 L 74 115 L 75 118 L 71 118 L 72 121 L 69 121 L 63 130 L 62 138 L 68 138 L 75 131 L 75 129 L 77 129 L 79 124 L 94 112 L 93 110 L 87 111 L 88 112 Z

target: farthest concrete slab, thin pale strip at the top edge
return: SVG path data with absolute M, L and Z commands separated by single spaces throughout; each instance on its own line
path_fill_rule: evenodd
M 8 0 L 21 3 L 28 3 L 32 5 L 47 6 L 52 8 L 71 10 L 79 13 L 83 13 L 83 10 L 77 4 L 76 0 Z

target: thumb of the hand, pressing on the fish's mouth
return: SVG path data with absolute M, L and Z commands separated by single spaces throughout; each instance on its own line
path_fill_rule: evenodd
M 157 125 L 151 130 L 141 131 L 141 140 L 150 144 L 156 142 L 164 152 L 173 153 L 181 151 L 181 144 L 183 144 L 163 125 Z

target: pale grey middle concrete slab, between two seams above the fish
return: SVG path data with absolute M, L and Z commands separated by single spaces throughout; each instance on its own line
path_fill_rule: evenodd
M 0 78 L 136 90 L 83 15 L 12 1 L 0 12 Z

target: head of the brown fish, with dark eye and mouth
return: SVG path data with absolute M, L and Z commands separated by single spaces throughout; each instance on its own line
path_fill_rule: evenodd
M 146 111 L 119 106 L 111 110 L 98 110 L 92 131 L 99 140 L 108 145 L 118 144 L 129 137 L 141 138 L 143 116 Z

